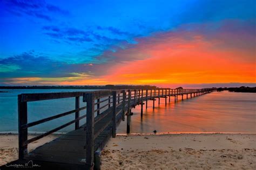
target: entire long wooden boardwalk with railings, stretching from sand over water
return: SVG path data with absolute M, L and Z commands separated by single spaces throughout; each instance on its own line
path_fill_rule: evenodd
M 10 164 L 25 164 L 33 160 L 34 164 L 45 168 L 62 169 L 91 169 L 99 168 L 99 153 L 107 140 L 116 137 L 116 127 L 127 118 L 127 133 L 130 133 L 131 109 L 141 106 L 143 117 L 143 105 L 147 108 L 147 102 L 152 100 L 153 109 L 156 99 L 165 98 L 165 104 L 169 97 L 174 101 L 211 93 L 213 89 L 134 89 L 134 90 L 102 90 L 74 93 L 45 93 L 45 94 L 22 94 L 18 96 L 19 118 L 19 159 Z M 28 123 L 27 103 L 41 100 L 58 100 L 59 98 L 75 98 L 75 109 Z M 79 98 L 83 97 L 85 107 L 79 107 Z M 80 110 L 86 109 L 86 115 L 80 116 Z M 75 119 L 53 130 L 39 134 L 37 137 L 28 139 L 28 128 L 44 122 L 57 119 L 66 115 L 75 114 Z M 86 123 L 79 125 L 80 119 L 86 118 Z M 48 134 L 54 133 L 75 123 L 75 130 L 62 134 L 55 140 L 50 141 L 28 153 L 28 144 L 41 139 Z M 6 166 L 1 169 L 8 168 Z

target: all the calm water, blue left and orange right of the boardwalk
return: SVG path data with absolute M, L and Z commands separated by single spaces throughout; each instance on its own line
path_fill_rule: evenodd
M 17 132 L 17 95 L 21 93 L 52 93 L 63 91 L 91 91 L 70 89 L 23 89 L 2 90 L 0 93 L 0 132 Z M 211 94 L 188 98 L 188 100 L 171 103 L 165 107 L 164 99 L 156 108 L 152 109 L 149 102 L 147 110 L 144 109 L 143 119 L 140 118 L 140 106 L 132 109 L 131 133 L 157 132 L 256 132 L 256 94 L 214 92 Z M 82 97 L 80 106 L 84 106 Z M 75 98 L 60 100 L 29 102 L 28 122 L 60 114 L 75 108 Z M 85 114 L 85 110 L 81 111 Z M 75 114 L 59 118 L 29 129 L 31 132 L 43 132 L 71 121 Z M 80 124 L 85 123 L 82 119 Z M 60 132 L 73 130 L 75 125 L 70 125 Z M 122 122 L 117 129 L 118 133 L 126 132 L 126 122 Z

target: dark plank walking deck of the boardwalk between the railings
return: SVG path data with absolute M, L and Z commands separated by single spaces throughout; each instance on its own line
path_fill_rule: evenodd
M 117 108 L 117 112 L 121 109 L 122 106 L 120 105 Z M 112 113 L 109 112 L 104 119 L 95 124 L 95 133 L 102 129 L 102 126 L 111 121 L 111 119 Z M 121 119 L 122 112 L 119 112 L 117 115 L 117 122 L 120 122 Z M 99 147 L 103 148 L 107 139 L 109 139 L 110 134 L 112 134 L 111 123 L 107 125 L 105 130 L 102 131 L 95 139 L 95 151 Z M 86 125 L 84 124 L 77 130 L 65 133 L 55 140 L 37 147 L 35 150 L 26 155 L 25 159 L 84 165 L 84 160 L 86 159 L 86 150 L 84 147 L 86 145 L 86 131 L 84 130 L 85 126 Z

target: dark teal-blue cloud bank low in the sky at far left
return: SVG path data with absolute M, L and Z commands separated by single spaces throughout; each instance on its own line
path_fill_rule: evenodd
M 36 52 L 24 52 L 0 60 L 0 77 L 72 77 L 70 73 L 91 74 L 91 65 L 52 60 Z

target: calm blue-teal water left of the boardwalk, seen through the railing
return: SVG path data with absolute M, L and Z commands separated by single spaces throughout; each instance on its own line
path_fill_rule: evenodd
M 17 95 L 22 93 L 55 93 L 70 91 L 93 91 L 83 89 L 0 89 L 0 91 L 8 91 L 8 93 L 0 93 L 0 132 L 17 132 L 18 131 L 18 104 Z M 80 97 L 80 107 L 85 103 Z M 62 98 L 58 100 L 28 102 L 28 122 L 38 121 L 39 119 L 49 116 L 61 114 L 66 111 L 75 109 L 75 97 Z M 80 115 L 84 115 L 86 110 L 80 111 Z M 30 132 L 45 132 L 64 123 L 68 123 L 75 118 L 75 114 L 64 116 L 50 122 L 39 124 L 29 128 Z M 86 119 L 82 119 L 80 124 L 84 124 Z M 72 124 L 59 132 L 67 132 L 73 130 L 75 124 Z

